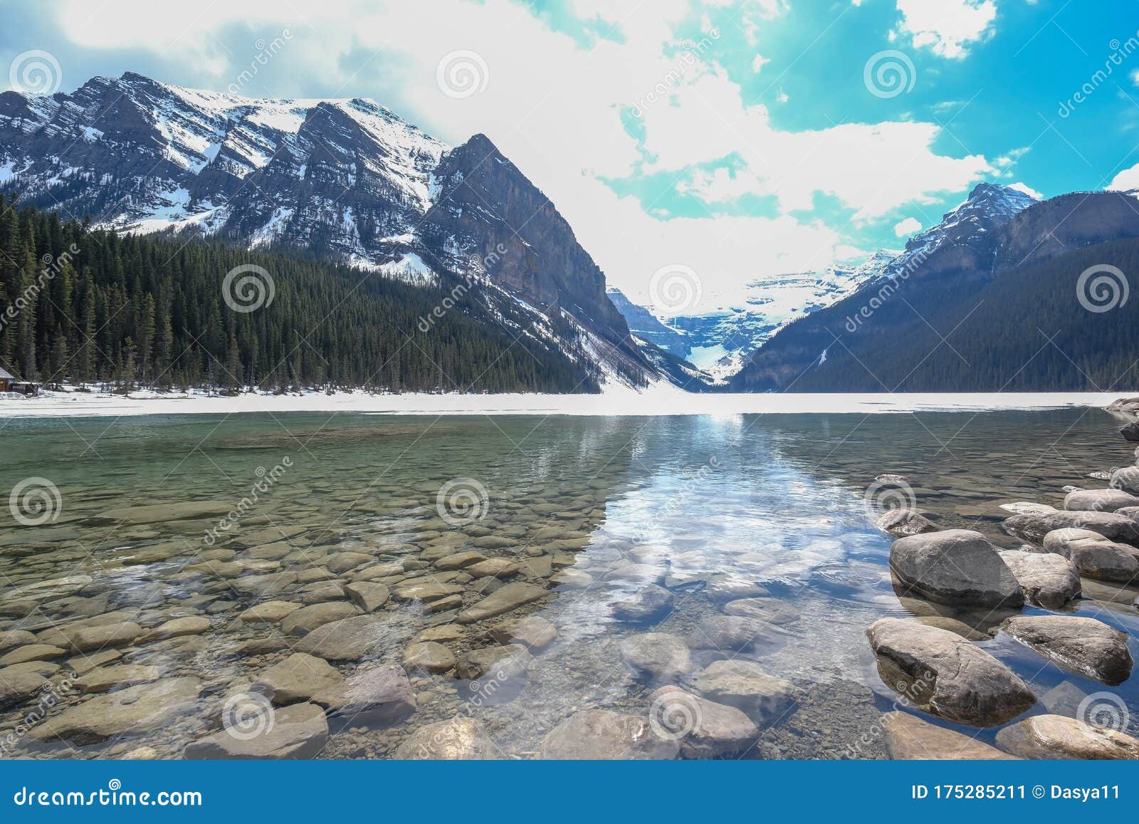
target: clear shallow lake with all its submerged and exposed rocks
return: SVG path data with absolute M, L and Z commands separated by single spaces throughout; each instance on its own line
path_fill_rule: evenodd
M 1136 408 L 8 421 L 0 754 L 1139 758 Z

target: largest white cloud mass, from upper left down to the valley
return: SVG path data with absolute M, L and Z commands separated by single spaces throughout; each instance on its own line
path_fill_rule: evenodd
M 931 123 L 776 129 L 767 108 L 745 105 L 740 88 L 716 67 L 724 40 L 713 41 L 665 99 L 645 107 L 641 145 L 640 129 L 631 136 L 622 111 L 675 75 L 677 43 L 691 34 L 678 31 L 694 19 L 688 0 L 574 0 L 582 18 L 601 19 L 621 33 L 588 46 L 510 0 L 322 0 L 319 10 L 305 5 L 304 15 L 294 6 L 219 5 L 171 26 L 169 10 L 153 0 L 121 0 L 115 15 L 92 15 L 85 0 L 67 0 L 57 7 L 57 24 L 74 43 L 161 57 L 171 71 L 163 79 L 190 76 L 214 89 L 224 89 L 249 58 L 227 54 L 220 32 L 288 27 L 293 36 L 287 54 L 276 58 L 282 62 L 276 85 L 251 93 L 311 96 L 305 83 L 319 82 L 317 88 L 336 96 L 376 98 L 451 142 L 485 132 L 554 201 L 607 277 L 633 300 L 647 297 L 649 277 L 669 263 L 699 274 L 704 308 L 738 302 L 743 284 L 757 275 L 830 264 L 838 250 L 850 248 L 849 229 L 787 214 L 810 210 L 817 194 L 833 195 L 867 221 L 965 190 L 991 172 L 981 155 L 939 155 L 939 128 Z M 759 31 L 786 5 L 753 0 L 746 8 L 745 28 Z M 436 65 L 456 50 L 485 60 L 484 91 L 453 99 L 436 87 Z M 353 74 L 345 65 L 359 70 Z M 267 83 L 272 68 L 262 75 Z M 778 99 L 787 97 L 780 92 Z M 698 164 L 710 171 L 694 173 Z M 671 174 L 707 204 L 773 196 L 781 213 L 666 219 L 662 204 L 617 196 L 601 182 L 642 172 Z

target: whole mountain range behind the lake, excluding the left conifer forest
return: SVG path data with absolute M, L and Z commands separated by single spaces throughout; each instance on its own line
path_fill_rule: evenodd
M 900 253 L 761 277 L 741 305 L 679 317 L 607 287 L 555 205 L 489 138 L 450 147 L 362 98 L 257 100 L 132 73 L 71 95 L 2 92 L 0 194 L 97 228 L 346 264 L 458 295 L 458 311 L 493 327 L 486 340 L 539 348 L 559 386 L 579 375 L 600 389 L 1056 389 L 1090 386 L 1139 356 L 1134 325 L 1120 328 L 1129 315 L 1075 303 L 1073 270 L 1107 244 L 1087 266 L 1139 271 L 1125 243 L 1139 237 L 1133 193 L 1038 202 L 981 183 Z M 1010 341 L 1043 332 L 1057 345 L 1024 364 Z M 1101 356 L 1082 354 L 1091 342 Z M 962 370 L 970 346 L 984 366 Z

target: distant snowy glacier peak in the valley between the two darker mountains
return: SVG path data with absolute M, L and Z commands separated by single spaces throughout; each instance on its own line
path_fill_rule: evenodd
M 780 328 L 853 293 L 898 254 L 879 250 L 858 266 L 757 278 L 747 284 L 743 305 L 700 315 L 657 318 L 616 287 L 609 287 L 609 296 L 634 335 L 723 378 L 738 372 L 746 356 Z

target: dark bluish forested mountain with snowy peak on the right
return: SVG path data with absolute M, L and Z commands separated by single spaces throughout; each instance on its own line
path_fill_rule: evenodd
M 1107 391 L 1139 378 L 1139 193 L 982 183 L 853 294 L 782 328 L 736 391 Z

